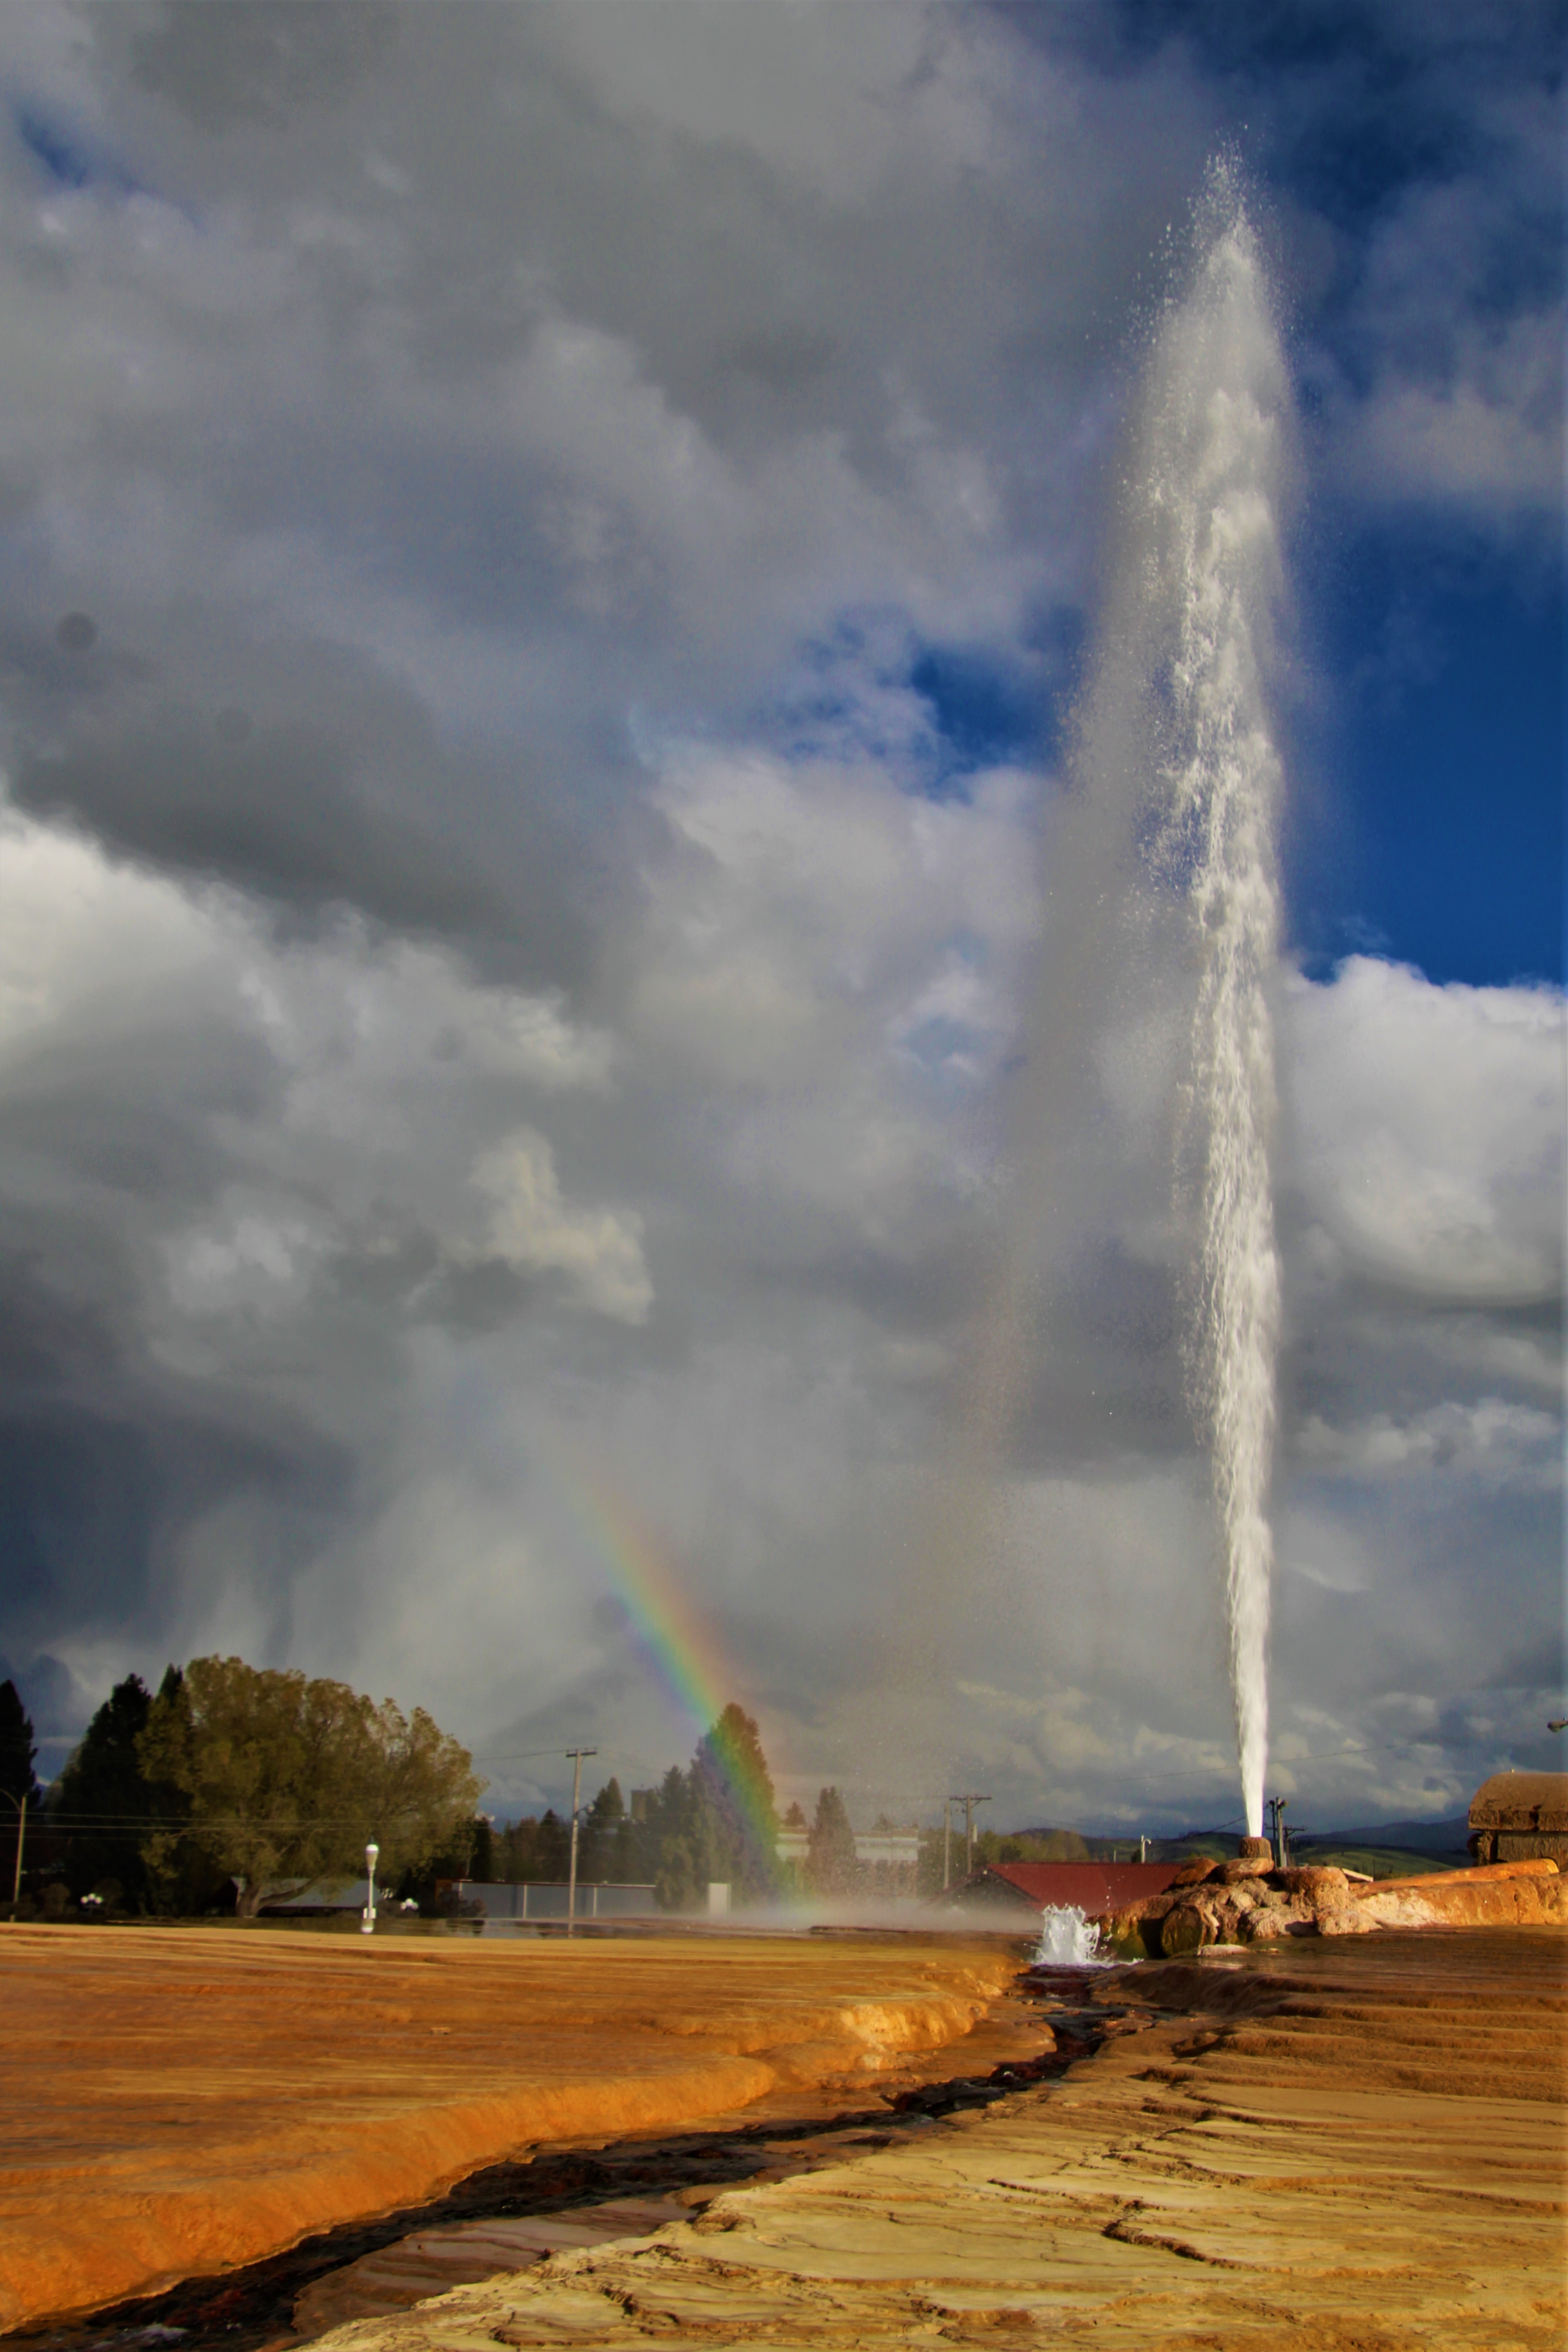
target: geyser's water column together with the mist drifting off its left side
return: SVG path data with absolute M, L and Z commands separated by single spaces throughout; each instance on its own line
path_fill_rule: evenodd
M 1248 1832 L 1262 1828 L 1279 1256 L 1269 1138 L 1284 762 L 1269 715 L 1295 477 L 1262 249 L 1215 167 L 1140 381 L 1119 548 L 1046 894 L 1039 1131 L 1084 1117 L 1093 1037 L 1190 1007 L 1173 1070 L 1182 1371 L 1211 1456 Z M 1077 1075 L 1074 1075 L 1077 1063 Z M 1074 1101 L 1077 1089 L 1077 1101 Z M 1053 1178 L 1046 1176 L 1046 1183 Z

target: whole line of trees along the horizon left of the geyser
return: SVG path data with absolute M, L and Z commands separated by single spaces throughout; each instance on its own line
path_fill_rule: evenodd
M 404 1717 L 348 1684 L 240 1658 L 172 1665 L 155 1693 L 127 1675 L 47 1799 L 33 1764 L 33 1726 L 0 1684 L 0 1792 L 9 1816 L 26 1802 L 28 1879 L 56 1889 L 54 1900 L 186 1917 L 235 1903 L 254 1915 L 289 1884 L 357 1875 L 371 1837 L 383 1882 L 421 1910 L 440 1910 L 454 1879 L 559 1882 L 569 1867 L 571 1823 L 545 1811 L 491 1825 L 475 1811 L 473 1759 L 423 1710 Z M 0 1818 L 0 1903 L 16 1825 Z M 802 1863 L 780 1860 L 780 1828 L 804 1832 Z M 943 1884 L 938 1849 L 922 1851 L 926 1891 Z M 701 1907 L 710 1879 L 738 1903 L 865 1884 L 837 1788 L 818 1795 L 811 1823 L 799 1806 L 780 1823 L 762 1736 L 738 1705 L 635 1811 L 618 1780 L 604 1783 L 583 1811 L 578 1877 L 654 1886 L 672 1912 Z

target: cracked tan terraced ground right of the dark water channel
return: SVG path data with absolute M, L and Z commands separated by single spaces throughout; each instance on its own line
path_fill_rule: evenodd
M 1566 1959 L 1462 1929 L 1150 1966 L 1056 2086 L 320 2352 L 1561 2352 Z

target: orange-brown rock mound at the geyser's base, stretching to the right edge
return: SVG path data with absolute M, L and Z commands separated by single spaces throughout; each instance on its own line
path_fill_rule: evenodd
M 1497 1882 L 1497 1884 L 1493 1884 Z M 1519 1882 L 1519 1884 L 1514 1884 Z M 1554 1860 L 1502 1863 L 1425 1879 L 1352 1879 L 1345 1870 L 1274 1870 L 1267 1853 L 1182 1863 L 1171 1886 L 1100 1926 L 1119 1950 L 1175 1959 L 1215 1943 L 1274 1936 L 1366 1936 L 1378 1926 L 1535 1926 L 1568 1919 Z

